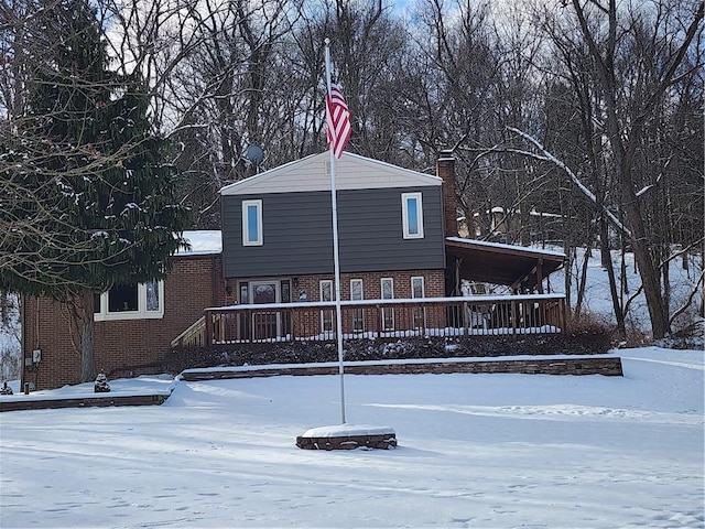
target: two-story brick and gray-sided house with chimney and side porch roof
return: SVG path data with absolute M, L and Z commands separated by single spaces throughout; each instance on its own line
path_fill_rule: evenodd
M 97 296 L 96 367 L 113 376 L 160 371 L 171 345 L 186 334 L 204 343 L 209 307 L 333 301 L 329 163 L 323 152 L 224 187 L 219 237 L 185 234 L 198 244 L 172 258 L 166 280 L 116 285 Z M 544 278 L 564 256 L 457 237 L 454 182 L 454 159 L 447 154 L 438 159 L 436 175 L 351 153 L 337 161 L 341 300 L 460 295 L 462 280 L 542 292 Z M 202 246 L 204 239 L 209 244 Z M 334 332 L 333 311 L 318 313 L 319 331 Z M 348 331 L 395 325 L 392 310 L 376 322 L 368 321 L 371 311 L 351 314 Z M 281 339 L 294 331 L 281 311 L 252 317 L 240 337 Z M 26 298 L 22 325 L 23 381 L 35 388 L 78 381 L 79 355 L 66 307 Z

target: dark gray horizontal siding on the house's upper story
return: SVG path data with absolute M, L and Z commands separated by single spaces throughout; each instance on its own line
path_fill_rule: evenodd
M 401 194 L 423 193 L 423 239 L 402 236 Z M 333 272 L 329 192 L 275 193 L 223 198 L 226 277 Z M 242 246 L 243 199 L 262 199 L 263 245 Z M 338 191 L 341 272 L 445 267 L 440 186 Z

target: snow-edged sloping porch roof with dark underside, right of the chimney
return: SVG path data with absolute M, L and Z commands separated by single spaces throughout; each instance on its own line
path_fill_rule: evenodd
M 458 263 L 462 279 L 529 290 L 565 261 L 565 255 L 556 251 L 457 237 L 446 238 L 445 251 L 448 267 Z

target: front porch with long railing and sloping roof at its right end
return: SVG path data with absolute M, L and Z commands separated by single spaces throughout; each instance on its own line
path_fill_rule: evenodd
M 544 279 L 563 267 L 556 251 L 448 237 L 446 298 L 340 301 L 345 341 L 405 337 L 520 336 L 566 331 L 563 294 L 544 293 Z M 469 292 L 463 283 L 503 293 Z M 547 282 L 546 282 L 547 283 Z M 336 303 L 243 303 L 209 307 L 172 342 L 212 347 L 275 342 L 335 342 Z

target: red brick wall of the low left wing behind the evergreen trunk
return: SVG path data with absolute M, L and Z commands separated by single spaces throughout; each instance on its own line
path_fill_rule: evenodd
M 164 280 L 164 317 L 156 320 L 102 321 L 94 324 L 96 368 L 119 376 L 161 373 L 138 369 L 161 361 L 171 341 L 203 315 L 207 306 L 234 302 L 226 295 L 219 255 L 180 256 Z M 25 368 L 23 381 L 36 389 L 57 388 L 80 381 L 80 356 L 70 333 L 68 309 L 44 298 L 29 298 L 23 311 L 23 356 L 42 349 L 37 368 Z

